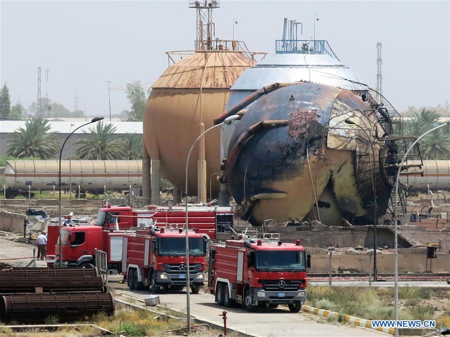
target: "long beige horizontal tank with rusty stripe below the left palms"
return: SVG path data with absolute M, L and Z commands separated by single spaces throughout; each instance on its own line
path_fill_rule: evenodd
M 52 190 L 58 188 L 57 160 L 7 160 L 6 185 L 12 190 Z M 128 190 L 142 186 L 141 160 L 62 160 L 61 187 L 82 191 Z

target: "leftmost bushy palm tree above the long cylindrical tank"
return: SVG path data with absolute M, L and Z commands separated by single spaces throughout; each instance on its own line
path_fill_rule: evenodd
M 16 158 L 38 157 L 53 158 L 59 151 L 59 141 L 46 119 L 31 118 L 24 128 L 14 131 L 7 154 Z

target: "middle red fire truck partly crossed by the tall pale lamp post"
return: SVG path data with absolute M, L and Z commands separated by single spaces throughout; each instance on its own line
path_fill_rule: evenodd
M 123 237 L 122 273 L 130 290 L 150 288 L 157 293 L 164 290 L 182 290 L 189 285 L 198 294 L 205 280 L 204 256 L 209 238 L 198 230 L 188 232 L 189 266 L 186 265 L 186 232 L 182 229 L 147 228 Z

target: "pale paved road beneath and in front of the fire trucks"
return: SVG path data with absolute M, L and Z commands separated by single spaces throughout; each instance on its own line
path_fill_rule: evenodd
M 136 292 L 117 289 L 118 293 L 144 299 L 149 292 Z M 185 311 L 186 293 L 163 293 L 159 295 L 161 305 Z M 190 296 L 190 314 L 192 316 L 223 324 L 222 317 L 218 316 L 225 310 L 214 303 L 214 297 L 209 294 Z M 279 306 L 276 309 L 262 308 L 257 313 L 247 313 L 242 307 L 226 308 L 227 327 L 231 327 L 257 336 L 307 336 L 307 337 L 359 337 L 359 336 L 389 336 L 374 330 L 352 327 L 348 325 L 333 325 L 317 323 L 318 316 L 298 313 L 292 314 L 287 307 Z

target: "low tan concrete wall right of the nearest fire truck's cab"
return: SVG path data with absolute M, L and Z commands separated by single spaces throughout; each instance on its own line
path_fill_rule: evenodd
M 324 249 L 306 248 L 311 253 L 311 273 L 328 273 L 329 253 Z M 436 254 L 432 260 L 433 273 L 448 273 L 450 271 L 450 254 Z M 376 256 L 378 273 L 393 273 L 394 253 L 383 252 Z M 400 248 L 398 250 L 399 273 L 425 273 L 425 248 Z M 359 272 L 368 273 L 373 268 L 370 252 L 333 252 L 331 256 L 332 272 Z M 428 270 L 429 270 L 428 260 Z

